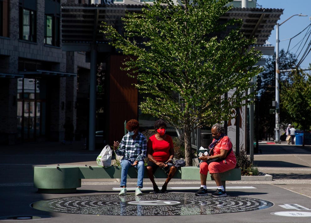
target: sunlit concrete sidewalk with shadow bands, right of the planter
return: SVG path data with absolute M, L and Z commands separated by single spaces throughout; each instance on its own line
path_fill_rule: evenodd
M 311 197 L 311 146 L 259 144 L 254 155 L 263 173 L 273 176 L 273 184 Z

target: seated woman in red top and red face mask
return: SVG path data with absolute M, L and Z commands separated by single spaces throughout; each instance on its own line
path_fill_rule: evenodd
M 170 182 L 177 170 L 176 167 L 168 165 L 168 163 L 172 163 L 174 158 L 174 145 L 172 138 L 165 134 L 166 123 L 163 119 L 157 120 L 154 127 L 156 133 L 149 138 L 147 144 L 147 157 L 149 158 L 147 173 L 153 184 L 153 191 L 160 192 L 153 175 L 158 167 L 164 169 L 168 176 L 161 191 L 167 192 L 167 184 Z

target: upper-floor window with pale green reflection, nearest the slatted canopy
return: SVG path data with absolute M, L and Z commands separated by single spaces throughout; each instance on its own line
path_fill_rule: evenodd
M 60 45 L 60 18 L 53 15 L 45 15 L 45 35 L 44 43 L 59 46 Z

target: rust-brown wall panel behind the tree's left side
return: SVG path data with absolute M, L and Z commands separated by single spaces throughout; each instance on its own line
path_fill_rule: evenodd
M 120 69 L 128 56 L 110 56 L 109 145 L 124 135 L 124 121 L 138 117 L 138 91 L 133 84 L 137 79 Z

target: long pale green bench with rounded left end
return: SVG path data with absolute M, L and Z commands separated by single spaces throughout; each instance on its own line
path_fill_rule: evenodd
M 163 170 L 157 169 L 155 178 L 167 178 Z M 81 187 L 81 179 L 120 179 L 121 167 L 111 166 L 103 168 L 88 165 L 47 165 L 34 166 L 34 187 L 39 193 L 61 194 L 76 192 Z M 128 178 L 137 178 L 136 168 L 129 168 Z M 144 178 L 148 178 L 145 169 Z M 181 167 L 177 169 L 175 179 L 199 180 L 198 167 Z M 240 180 L 241 169 L 232 169 L 221 173 L 221 180 L 225 187 L 226 180 Z M 207 180 L 213 180 L 208 174 Z

